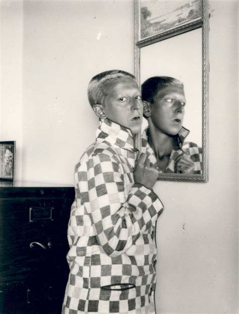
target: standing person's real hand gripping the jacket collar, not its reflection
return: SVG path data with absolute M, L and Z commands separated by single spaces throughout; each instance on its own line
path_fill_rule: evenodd
M 153 188 L 158 178 L 158 171 L 150 164 L 146 153 L 142 153 L 135 164 L 135 183 L 141 183 L 150 190 Z

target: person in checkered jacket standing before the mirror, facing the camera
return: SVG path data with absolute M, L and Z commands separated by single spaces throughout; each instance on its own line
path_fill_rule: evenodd
M 94 76 L 88 99 L 100 119 L 75 168 L 68 227 L 70 266 L 62 313 L 155 313 L 155 224 L 163 205 L 157 170 L 139 155 L 143 104 L 135 77 Z

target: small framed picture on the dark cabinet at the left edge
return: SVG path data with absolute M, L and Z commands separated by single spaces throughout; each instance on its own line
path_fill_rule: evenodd
M 14 181 L 15 141 L 0 142 L 0 180 Z

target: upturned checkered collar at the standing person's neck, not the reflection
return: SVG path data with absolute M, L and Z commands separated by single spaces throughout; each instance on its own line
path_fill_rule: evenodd
M 96 137 L 97 140 L 106 140 L 112 145 L 129 150 L 136 150 L 136 145 L 131 130 L 108 119 L 100 121 L 100 126 L 96 131 Z

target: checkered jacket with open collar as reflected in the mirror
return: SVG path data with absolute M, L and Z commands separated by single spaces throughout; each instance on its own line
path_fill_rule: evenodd
M 142 152 L 147 153 L 150 162 L 155 167 L 158 167 L 154 151 L 148 144 L 148 132 L 149 129 L 147 128 L 142 134 Z M 189 132 L 190 131 L 184 127 L 182 127 L 182 129 L 178 132 L 178 147 L 172 149 L 165 171 L 162 172 L 160 169 L 158 169 L 159 173 L 174 173 L 175 160 L 179 155 L 183 153 L 186 153 L 194 162 L 194 174 L 202 173 L 202 148 L 193 142 L 185 142 L 185 138 L 189 135 Z

